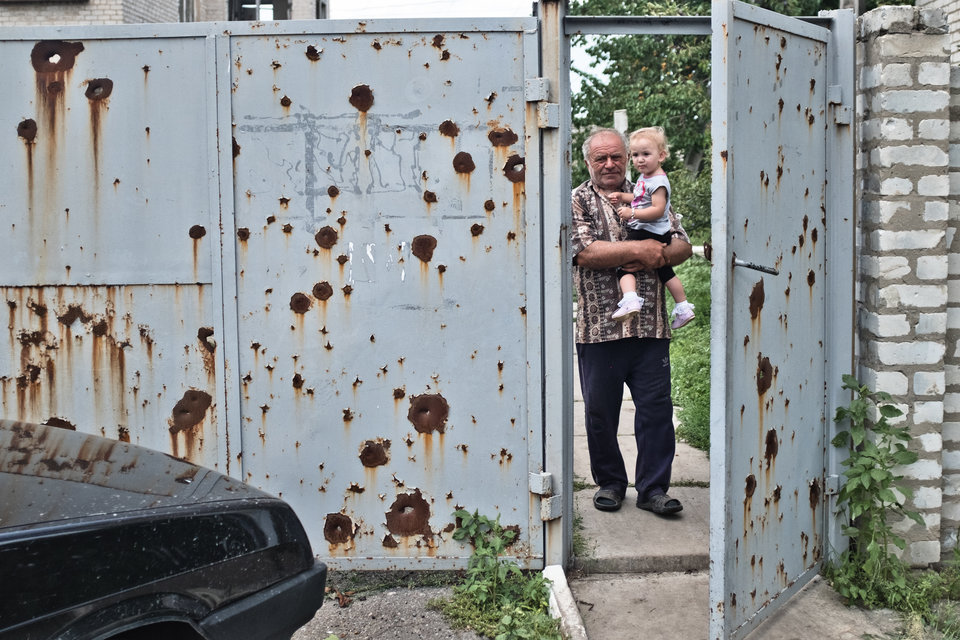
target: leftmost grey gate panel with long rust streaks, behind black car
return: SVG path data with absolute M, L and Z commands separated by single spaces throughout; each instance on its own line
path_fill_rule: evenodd
M 3 415 L 227 468 L 199 29 L 0 32 Z

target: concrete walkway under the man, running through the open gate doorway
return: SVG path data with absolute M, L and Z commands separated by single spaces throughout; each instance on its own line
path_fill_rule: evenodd
M 574 474 L 592 485 L 583 404 L 575 381 Z M 636 459 L 633 405 L 626 395 L 620 446 L 632 468 Z M 683 502 L 674 518 L 635 506 L 628 489 L 616 512 L 593 507 L 594 487 L 578 491 L 587 551 L 567 576 L 574 610 L 564 615 L 572 638 L 589 640 L 706 640 L 709 637 L 710 462 L 706 454 L 678 443 L 670 495 Z M 804 587 L 748 640 L 853 640 L 898 637 L 900 621 L 891 612 L 846 607 L 819 578 Z

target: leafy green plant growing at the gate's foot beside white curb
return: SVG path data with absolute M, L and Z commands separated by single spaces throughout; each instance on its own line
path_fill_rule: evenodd
M 470 627 L 496 640 L 543 638 L 561 640 L 559 625 L 549 612 L 549 582 L 540 572 L 525 573 L 503 557 L 516 532 L 474 511 L 454 512 L 455 540 L 469 540 L 473 554 L 463 582 L 449 600 L 432 604 L 454 626 Z

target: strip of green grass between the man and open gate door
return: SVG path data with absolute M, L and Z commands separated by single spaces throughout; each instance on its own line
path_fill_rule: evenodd
M 673 332 L 670 344 L 673 404 L 678 407 L 679 420 L 677 438 L 709 451 L 710 263 L 694 255 L 675 270 L 697 314 L 693 322 Z

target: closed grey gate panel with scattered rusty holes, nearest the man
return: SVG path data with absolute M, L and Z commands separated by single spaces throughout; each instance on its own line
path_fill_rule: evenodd
M 457 508 L 536 566 L 536 22 L 309 28 L 230 40 L 244 480 L 333 567 L 464 566 Z

